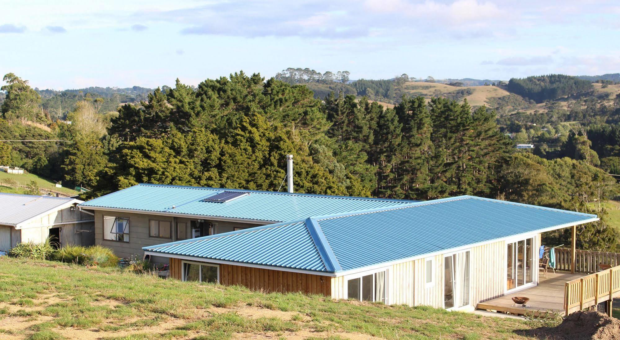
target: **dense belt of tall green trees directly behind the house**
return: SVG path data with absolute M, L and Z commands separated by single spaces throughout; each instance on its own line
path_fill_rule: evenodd
M 15 107 L 18 99 L 4 104 Z M 3 117 L 0 135 L 37 129 Z M 139 182 L 278 190 L 289 153 L 299 192 L 422 200 L 472 194 L 591 211 L 615 190 L 593 166 L 587 138 L 573 138 L 578 160 L 515 153 L 495 112 L 444 97 L 402 97 L 386 109 L 342 92 L 316 99 L 306 86 L 240 72 L 196 87 L 177 80 L 123 105 L 112 120 L 84 97 L 68 119 L 50 123 L 50 132 L 38 129 L 47 133 L 38 138 L 73 143 L 11 145 L 9 156 L 0 145 L 0 157 L 91 195 Z M 615 237 L 604 224 L 592 228 Z M 583 231 L 584 246 L 594 249 L 602 241 L 591 230 Z

